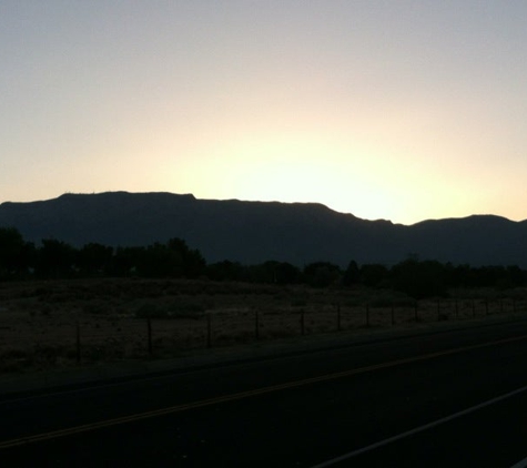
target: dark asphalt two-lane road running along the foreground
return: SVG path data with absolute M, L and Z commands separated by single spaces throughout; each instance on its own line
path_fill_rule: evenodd
M 0 400 L 9 467 L 513 467 L 527 321 Z

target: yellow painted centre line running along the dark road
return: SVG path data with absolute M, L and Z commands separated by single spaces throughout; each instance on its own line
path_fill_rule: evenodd
M 170 414 L 174 414 L 174 413 L 186 411 L 186 410 L 190 410 L 190 409 L 203 408 L 205 406 L 240 400 L 240 399 L 243 399 L 243 398 L 250 398 L 250 397 L 254 397 L 254 396 L 259 396 L 259 395 L 270 394 L 272 391 L 280 391 L 280 390 L 285 390 L 285 389 L 288 389 L 288 388 L 302 387 L 302 386 L 305 386 L 305 385 L 316 384 L 318 381 L 334 380 L 334 379 L 348 377 L 348 376 L 356 375 L 356 374 L 363 374 L 363 373 L 377 370 L 377 369 L 383 369 L 383 368 L 387 368 L 387 367 L 401 366 L 403 364 L 409 364 L 409 363 L 417 363 L 417 362 L 420 362 L 420 360 L 434 359 L 436 357 L 447 356 L 447 355 L 457 354 L 457 353 L 462 353 L 462 352 L 467 352 L 467 350 L 472 350 L 472 349 L 496 346 L 496 345 L 500 345 L 500 344 L 505 344 L 505 343 L 511 343 L 511 342 L 519 342 L 519 340 L 526 339 L 526 338 L 527 338 L 527 335 L 521 335 L 521 336 L 516 336 L 516 337 L 513 337 L 513 338 L 504 338 L 504 339 L 498 339 L 498 340 L 494 340 L 494 342 L 483 343 L 483 344 L 479 344 L 479 345 L 464 346 L 464 347 L 459 347 L 459 348 L 453 348 L 453 349 L 447 349 L 447 350 L 443 350 L 443 352 L 425 354 L 425 355 L 422 355 L 422 356 L 407 357 L 407 358 L 404 358 L 404 359 L 391 360 L 388 363 L 382 363 L 382 364 L 375 364 L 375 365 L 372 365 L 372 366 L 358 367 L 356 369 L 343 370 L 343 372 L 334 373 L 334 374 L 326 374 L 326 375 L 318 376 L 318 377 L 311 377 L 311 378 L 305 378 L 305 379 L 302 379 L 302 380 L 294 380 L 294 381 L 288 381 L 288 383 L 285 383 L 285 384 L 272 385 L 272 386 L 268 386 L 268 387 L 257 388 L 255 390 L 240 391 L 240 393 L 236 393 L 236 394 L 224 395 L 224 396 L 221 396 L 221 397 L 207 398 L 207 399 L 202 399 L 202 400 L 199 400 L 199 401 L 170 406 L 168 408 L 155 409 L 155 410 L 145 411 L 145 413 L 139 413 L 136 415 L 123 416 L 123 417 L 107 419 L 107 420 L 102 420 L 102 421 L 98 421 L 98 423 L 84 424 L 84 425 L 81 425 L 81 426 L 74 426 L 74 427 L 70 427 L 70 428 L 67 428 L 67 429 L 53 430 L 53 431 L 50 431 L 50 433 L 38 434 L 38 435 L 34 435 L 34 436 L 20 437 L 20 438 L 17 438 L 17 439 L 11 439 L 11 440 L 6 440 L 6 441 L 0 442 L 0 450 L 6 449 L 6 448 L 10 448 L 10 447 L 21 446 L 21 445 L 24 445 L 24 444 L 32 444 L 32 442 L 43 441 L 43 440 L 50 440 L 50 439 L 55 439 L 55 438 L 59 438 L 59 437 L 71 436 L 73 434 L 85 433 L 85 431 L 89 431 L 89 430 L 101 429 L 101 428 L 110 427 L 110 426 L 116 426 L 116 425 L 120 425 L 120 424 L 133 423 L 133 421 L 138 421 L 138 420 L 142 420 L 142 419 L 149 419 L 149 418 L 170 415 Z

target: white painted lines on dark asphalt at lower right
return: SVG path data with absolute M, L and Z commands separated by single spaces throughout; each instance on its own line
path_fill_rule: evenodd
M 357 450 L 349 451 L 348 454 L 341 455 L 339 457 L 332 458 L 331 460 L 323 461 L 322 464 L 315 465 L 312 468 L 325 468 L 331 467 L 332 465 L 336 465 L 341 461 L 347 460 L 349 458 L 356 457 L 357 455 L 365 454 L 366 451 L 375 450 L 376 448 L 383 447 L 385 445 L 395 442 L 397 440 L 404 439 L 406 437 L 413 436 L 414 434 L 422 433 L 427 429 L 432 429 L 433 427 L 439 426 L 444 423 L 448 423 L 453 419 L 459 418 L 462 416 L 468 415 L 470 413 L 477 411 L 478 409 L 485 408 L 487 406 L 494 405 L 495 403 L 503 401 L 504 399 L 514 397 L 515 395 L 521 394 L 527 390 L 527 386 L 518 388 L 516 390 L 509 391 L 508 394 L 501 395 L 499 397 L 489 399 L 487 401 L 480 403 L 479 405 L 472 406 L 467 409 L 463 409 L 462 411 L 454 413 L 450 416 L 446 416 L 444 418 L 437 419 L 433 423 L 425 424 L 424 426 L 416 427 L 414 429 L 407 430 L 406 433 L 398 434 L 397 436 L 388 437 L 387 439 L 379 440 L 378 442 L 368 445 L 366 447 L 359 448 Z M 515 465 L 511 468 L 527 468 L 527 458 L 519 461 L 519 464 Z

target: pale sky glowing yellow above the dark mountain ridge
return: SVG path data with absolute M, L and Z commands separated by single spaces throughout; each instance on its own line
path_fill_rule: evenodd
M 527 218 L 525 0 L 2 0 L 0 203 Z

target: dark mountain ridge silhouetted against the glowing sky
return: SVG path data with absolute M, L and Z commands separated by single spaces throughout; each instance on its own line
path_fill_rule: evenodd
M 413 225 L 367 221 L 316 203 L 197 200 L 172 193 L 108 192 L 0 204 L 0 226 L 27 241 L 57 238 L 74 246 L 149 245 L 172 237 L 209 263 L 268 260 L 294 265 L 326 261 L 346 266 L 393 265 L 417 255 L 442 263 L 527 267 L 527 221 L 494 215 Z

